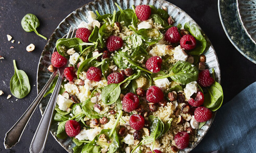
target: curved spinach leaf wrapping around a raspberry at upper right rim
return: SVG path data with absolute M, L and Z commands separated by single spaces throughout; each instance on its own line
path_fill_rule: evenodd
M 191 35 L 193 35 L 196 38 L 196 48 L 190 50 L 188 52 L 189 55 L 200 55 L 204 52 L 206 47 L 206 40 L 204 39 L 204 36 L 202 35 L 199 28 L 193 24 L 189 25 L 189 22 L 185 23 L 184 28 L 189 31 Z

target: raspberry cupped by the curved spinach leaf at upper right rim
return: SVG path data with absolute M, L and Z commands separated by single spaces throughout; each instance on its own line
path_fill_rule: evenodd
M 186 50 L 191 50 L 196 47 L 196 39 L 190 34 L 186 34 L 180 39 L 180 46 Z

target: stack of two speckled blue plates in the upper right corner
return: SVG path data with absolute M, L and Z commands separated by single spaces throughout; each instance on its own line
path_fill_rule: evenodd
M 219 0 L 220 21 L 230 42 L 256 63 L 256 1 Z

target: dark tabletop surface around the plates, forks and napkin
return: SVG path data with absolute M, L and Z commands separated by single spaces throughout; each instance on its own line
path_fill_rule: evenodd
M 5 133 L 20 118 L 36 97 L 36 71 L 37 64 L 46 40 L 34 32 L 23 31 L 20 21 L 27 13 L 35 14 L 40 21 L 38 32 L 50 37 L 54 29 L 69 13 L 88 3 L 90 0 L 1 0 L 0 2 L 0 55 L 4 60 L 0 62 L 0 153 L 29 152 L 29 145 L 41 119 L 39 108 L 28 123 L 20 142 L 9 150 L 4 149 Z M 168 0 L 186 11 L 204 30 L 211 40 L 221 68 L 221 82 L 224 91 L 224 103 L 228 102 L 246 86 L 256 81 L 256 65 L 241 55 L 229 42 L 224 33 L 218 14 L 217 0 Z M 15 42 L 7 40 L 10 34 Z M 18 44 L 20 41 L 20 44 Z M 28 53 L 26 46 L 33 43 L 36 49 Z M 10 49 L 13 46 L 15 48 Z M 24 70 L 31 84 L 31 91 L 27 97 L 19 99 L 11 94 L 9 82 L 14 73 L 12 60 L 16 60 L 18 69 Z M 66 151 L 49 135 L 45 151 L 51 153 L 65 153 Z

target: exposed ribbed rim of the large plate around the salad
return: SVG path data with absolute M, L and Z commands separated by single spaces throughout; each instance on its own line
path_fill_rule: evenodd
M 76 11 L 73 11 L 63 21 L 61 21 L 60 25 L 52 33 L 52 36 L 46 43 L 38 64 L 38 71 L 37 71 L 38 92 L 43 88 L 44 84 L 50 78 L 51 73 L 47 70 L 47 67 L 50 65 L 50 62 L 51 62 L 50 55 L 53 51 L 56 40 L 60 39 L 68 32 L 70 25 L 77 26 L 81 21 L 87 21 L 86 19 L 86 15 L 88 15 L 87 11 L 95 12 L 96 10 L 98 10 L 100 14 L 106 14 L 106 13 L 112 13 L 114 10 L 118 10 L 118 8 L 114 4 L 115 2 L 117 2 L 123 9 L 131 8 L 132 5 L 136 6 L 140 4 L 150 4 L 150 5 L 156 6 L 156 8 L 161 8 L 161 6 L 164 5 L 165 7 L 168 8 L 169 15 L 171 15 L 176 21 L 174 25 L 177 25 L 178 23 L 181 23 L 182 25 L 184 25 L 186 22 L 190 22 L 190 24 L 193 24 L 193 23 L 196 24 L 196 22 L 187 13 L 185 13 L 183 10 L 181 10 L 177 6 L 169 2 L 166 2 L 164 0 L 143 0 L 143 1 L 142 0 L 129 0 L 129 1 L 128 0 L 123 0 L 123 1 L 96 0 L 91 3 L 85 4 L 81 8 L 78 8 Z M 208 46 L 204 51 L 204 55 L 206 56 L 206 59 L 207 59 L 206 65 L 208 66 L 210 71 L 212 68 L 215 69 L 216 78 L 218 82 L 220 82 L 220 65 L 219 65 L 217 55 L 214 51 L 214 48 L 210 40 L 206 35 L 205 35 L 205 38 L 208 44 Z M 44 112 L 49 99 L 50 99 L 50 96 L 47 96 L 46 98 L 42 99 L 40 103 L 41 113 Z M 198 140 L 193 145 L 189 145 L 188 148 L 180 150 L 180 153 L 188 153 L 189 151 L 191 151 L 196 147 L 196 145 L 203 139 L 204 135 L 207 133 L 208 129 L 210 128 L 214 120 L 215 114 L 216 112 L 213 113 L 212 119 L 207 121 L 206 124 L 201 129 L 198 130 Z M 70 138 L 58 139 L 57 136 L 54 134 L 54 132 L 57 132 L 57 128 L 58 128 L 57 123 L 53 123 L 51 126 L 51 133 L 53 137 L 60 143 L 60 145 L 64 149 L 72 153 L 73 152 L 72 148 L 75 146 L 75 143 L 73 143 Z

